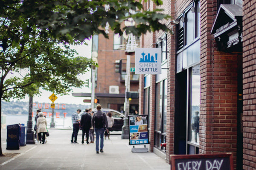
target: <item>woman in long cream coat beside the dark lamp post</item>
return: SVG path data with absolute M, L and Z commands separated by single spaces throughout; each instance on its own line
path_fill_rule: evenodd
M 36 121 L 36 125 L 37 125 L 37 133 L 38 133 L 38 140 L 40 140 L 40 143 L 42 142 L 42 144 L 44 144 L 45 141 L 45 135 L 47 133 L 47 121 L 44 117 L 44 113 L 43 112 L 39 112 L 38 113 L 38 119 Z

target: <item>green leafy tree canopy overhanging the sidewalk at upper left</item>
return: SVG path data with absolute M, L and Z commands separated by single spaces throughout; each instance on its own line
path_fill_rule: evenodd
M 169 16 L 160 11 L 144 11 L 141 0 L 0 0 L 0 111 L 2 100 L 34 96 L 39 87 L 57 94 L 81 87 L 84 82 L 76 75 L 96 63 L 74 57 L 70 44 L 93 34 L 107 38 L 106 26 L 120 35 L 168 31 L 160 20 Z M 136 25 L 122 27 L 130 17 Z M 21 77 L 9 78 L 13 73 Z

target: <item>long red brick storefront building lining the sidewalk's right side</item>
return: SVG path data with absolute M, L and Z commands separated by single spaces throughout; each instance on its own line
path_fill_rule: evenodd
M 172 33 L 140 39 L 142 48 L 162 49 L 168 68 L 140 75 L 139 111 L 149 115 L 151 152 L 169 163 L 171 154 L 233 153 L 235 169 L 255 170 L 255 4 L 163 0 Z M 149 1 L 144 8 L 156 6 Z

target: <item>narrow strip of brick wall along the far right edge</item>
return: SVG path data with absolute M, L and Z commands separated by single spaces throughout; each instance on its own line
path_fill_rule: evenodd
M 243 170 L 256 167 L 256 0 L 243 0 Z

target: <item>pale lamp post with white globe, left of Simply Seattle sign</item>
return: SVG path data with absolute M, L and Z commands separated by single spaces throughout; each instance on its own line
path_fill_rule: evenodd
M 125 21 L 125 26 L 134 26 L 135 22 L 132 18 Z M 125 76 L 125 119 L 124 125 L 122 126 L 121 139 L 129 139 L 129 127 L 128 127 L 128 115 L 130 113 L 130 101 L 127 98 L 127 92 L 130 91 L 130 65 L 131 65 L 131 54 L 134 54 L 135 48 L 137 47 L 135 36 L 133 34 L 128 35 L 126 43 L 125 54 L 127 54 L 126 62 L 126 76 Z

